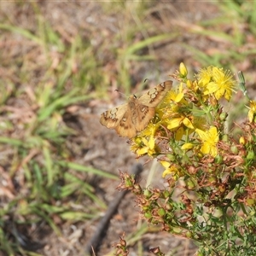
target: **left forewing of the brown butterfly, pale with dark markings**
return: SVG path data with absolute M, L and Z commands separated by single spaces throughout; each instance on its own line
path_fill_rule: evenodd
M 116 128 L 119 125 L 121 119 L 124 117 L 127 108 L 128 104 L 125 103 L 119 107 L 111 108 L 108 111 L 105 111 L 102 113 L 100 119 L 101 124 L 109 129 Z

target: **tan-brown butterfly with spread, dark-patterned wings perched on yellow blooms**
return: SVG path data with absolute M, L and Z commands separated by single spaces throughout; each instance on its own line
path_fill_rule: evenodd
M 109 129 L 115 129 L 122 137 L 135 137 L 137 131 L 143 131 L 154 117 L 154 108 L 171 88 L 172 81 L 167 80 L 139 98 L 130 96 L 127 103 L 102 113 L 100 122 Z

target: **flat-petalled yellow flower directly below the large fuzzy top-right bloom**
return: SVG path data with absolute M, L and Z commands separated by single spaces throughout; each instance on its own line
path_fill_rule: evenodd
M 195 132 L 199 135 L 202 141 L 201 153 L 211 154 L 213 157 L 215 157 L 218 154 L 217 128 L 215 126 L 212 126 L 208 131 L 201 131 L 200 129 L 195 129 Z

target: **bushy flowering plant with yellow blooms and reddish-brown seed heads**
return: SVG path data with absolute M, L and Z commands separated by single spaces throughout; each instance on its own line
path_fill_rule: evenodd
M 206 67 L 193 80 L 187 75 L 182 63 L 172 75 L 179 88 L 167 93 L 157 118 L 131 143 L 131 151 L 148 154 L 166 168 L 166 189 L 142 188 L 126 173 L 120 175 L 119 189 L 137 196 L 148 224 L 195 241 L 198 255 L 253 255 L 256 102 L 249 102 L 238 141 L 225 131 L 228 113 L 220 103 L 221 98 L 230 101 L 235 87 L 230 72 Z M 151 143 L 148 151 L 142 150 L 145 141 Z

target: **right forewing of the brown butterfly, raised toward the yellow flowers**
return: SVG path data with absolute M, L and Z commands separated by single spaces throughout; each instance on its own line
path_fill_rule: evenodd
M 166 96 L 167 91 L 172 89 L 172 81 L 167 80 L 161 84 L 156 85 L 154 88 L 148 90 L 147 93 L 140 96 L 137 101 L 139 104 L 155 108 L 162 99 Z

